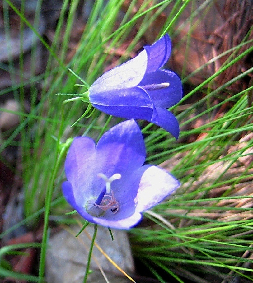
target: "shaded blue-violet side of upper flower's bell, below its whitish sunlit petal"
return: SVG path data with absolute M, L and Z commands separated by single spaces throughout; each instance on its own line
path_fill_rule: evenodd
M 100 111 L 126 119 L 151 119 L 154 111 L 149 95 L 138 86 L 99 93 L 90 102 Z

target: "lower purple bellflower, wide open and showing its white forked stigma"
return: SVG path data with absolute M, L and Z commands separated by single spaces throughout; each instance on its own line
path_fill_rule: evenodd
M 161 202 L 178 186 L 166 171 L 143 165 L 142 133 L 131 119 L 106 132 L 95 145 L 89 137 L 71 144 L 62 185 L 68 203 L 87 221 L 129 229 L 141 212 Z

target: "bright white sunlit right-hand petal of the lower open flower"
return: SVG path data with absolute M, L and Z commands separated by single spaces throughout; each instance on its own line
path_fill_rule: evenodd
M 150 166 L 142 175 L 136 196 L 136 211 L 142 212 L 161 202 L 180 185 L 171 174 Z

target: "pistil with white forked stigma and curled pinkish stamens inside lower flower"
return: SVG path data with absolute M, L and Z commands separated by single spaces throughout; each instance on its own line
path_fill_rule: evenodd
M 105 181 L 105 188 L 103 188 L 95 202 L 93 199 L 87 202 L 87 212 L 92 216 L 101 216 L 108 209 L 110 209 L 113 214 L 117 213 L 119 210 L 119 203 L 114 197 L 113 190 L 111 189 L 111 183 L 115 180 L 119 180 L 121 178 L 121 174 L 116 173 L 110 178 L 107 178 L 105 174 L 99 173 L 97 174 L 97 177 L 102 178 Z

